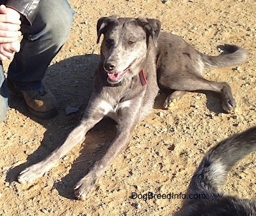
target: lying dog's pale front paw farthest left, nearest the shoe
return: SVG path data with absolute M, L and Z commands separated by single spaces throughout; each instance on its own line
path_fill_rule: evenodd
M 18 182 L 21 184 L 26 182 L 33 182 L 36 180 L 36 178 L 42 177 L 45 172 L 46 171 L 42 164 L 38 162 L 37 164 L 33 164 L 32 166 L 29 166 L 28 168 L 21 171 L 20 175 L 18 176 Z

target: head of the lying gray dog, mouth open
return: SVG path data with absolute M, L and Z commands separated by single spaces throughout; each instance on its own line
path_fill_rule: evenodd
M 109 83 L 120 83 L 125 76 L 140 73 L 148 46 L 157 46 L 160 29 L 160 21 L 150 18 L 111 16 L 98 20 L 97 43 L 104 34 L 100 53 Z

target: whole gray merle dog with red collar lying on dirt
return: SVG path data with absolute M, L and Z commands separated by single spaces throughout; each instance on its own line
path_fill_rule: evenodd
M 86 199 L 97 179 L 129 143 L 139 120 L 150 113 L 159 86 L 175 89 L 164 107 L 179 99 L 187 90 L 214 90 L 223 97 L 223 108 L 234 109 L 236 102 L 230 86 L 212 82 L 202 76 L 204 66 L 222 67 L 241 63 L 247 52 L 234 45 L 225 45 L 227 55 L 211 57 L 195 50 L 179 36 L 160 32 L 159 20 L 148 18 L 102 17 L 97 23 L 97 36 L 104 34 L 100 61 L 95 70 L 93 93 L 79 125 L 67 140 L 49 157 L 24 169 L 19 182 L 31 182 L 44 175 L 103 117 L 118 123 L 115 139 L 106 154 L 95 162 L 84 178 L 77 182 L 75 194 Z

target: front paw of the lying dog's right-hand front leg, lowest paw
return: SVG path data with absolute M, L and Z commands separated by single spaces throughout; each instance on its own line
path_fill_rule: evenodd
M 84 176 L 74 187 L 74 193 L 77 199 L 85 200 L 90 196 L 96 179 L 92 175 Z

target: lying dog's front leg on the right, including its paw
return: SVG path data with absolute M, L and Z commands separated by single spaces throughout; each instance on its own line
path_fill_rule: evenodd
M 77 199 L 85 200 L 86 196 L 90 195 L 100 175 L 106 171 L 109 164 L 122 152 L 127 143 L 129 143 L 132 130 L 140 118 L 142 99 L 132 99 L 130 102 L 127 103 L 130 104 L 129 106 L 122 107 L 116 111 L 118 128 L 115 139 L 110 144 L 108 151 L 100 161 L 95 162 L 89 173 L 75 185 L 74 193 Z

